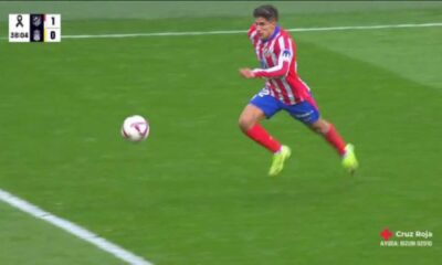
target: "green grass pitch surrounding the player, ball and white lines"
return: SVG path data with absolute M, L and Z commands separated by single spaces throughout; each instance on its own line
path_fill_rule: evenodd
M 256 2 L 0 3 L 62 14 L 62 33 L 246 30 Z M 438 2 L 276 2 L 284 28 L 442 22 Z M 438 264 L 442 257 L 442 28 L 294 32 L 298 72 L 355 144 L 334 150 L 280 114 L 281 177 L 238 117 L 262 81 L 245 34 L 0 40 L 0 189 L 158 265 Z M 119 136 L 126 116 L 149 138 Z M 431 231 L 432 247 L 379 233 Z M 397 239 L 396 240 L 400 240 Z M 122 264 L 0 202 L 0 264 Z

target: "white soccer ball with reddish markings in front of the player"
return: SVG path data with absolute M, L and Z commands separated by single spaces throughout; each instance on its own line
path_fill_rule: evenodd
M 127 117 L 122 126 L 122 136 L 129 141 L 143 141 L 149 135 L 149 124 L 139 115 Z

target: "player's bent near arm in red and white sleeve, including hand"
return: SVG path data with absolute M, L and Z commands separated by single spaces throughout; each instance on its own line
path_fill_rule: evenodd
M 291 62 L 294 56 L 293 46 L 290 42 L 290 39 L 286 36 L 281 36 L 275 43 L 274 51 L 277 59 L 276 65 L 266 70 L 253 70 L 255 77 L 278 78 L 288 74 Z

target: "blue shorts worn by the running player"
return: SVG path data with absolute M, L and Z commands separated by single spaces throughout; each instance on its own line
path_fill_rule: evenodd
M 263 88 L 252 99 L 250 104 L 263 110 L 266 118 L 271 118 L 281 109 L 287 112 L 292 117 L 304 124 L 313 124 L 319 119 L 319 110 L 309 102 L 302 102 L 295 105 L 286 105 L 270 95 L 267 88 Z

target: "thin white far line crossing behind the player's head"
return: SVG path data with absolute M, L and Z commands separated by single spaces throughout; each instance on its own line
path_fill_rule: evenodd
M 380 30 L 400 28 L 427 28 L 442 26 L 442 22 L 423 24 L 387 24 L 387 25 L 349 25 L 326 28 L 297 28 L 287 29 L 290 32 L 314 32 L 314 31 L 348 31 L 348 30 Z M 188 32 L 154 32 L 154 33 L 127 33 L 127 34 L 87 34 L 87 35 L 63 35 L 62 39 L 110 39 L 110 38 L 139 38 L 139 36 L 189 36 L 189 35 L 221 35 L 246 33 L 245 30 L 223 31 L 188 31 Z

